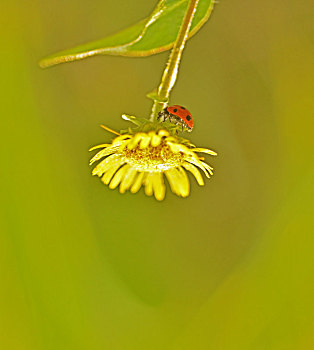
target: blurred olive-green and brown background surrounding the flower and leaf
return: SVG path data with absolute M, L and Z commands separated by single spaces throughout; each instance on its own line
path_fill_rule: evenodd
M 155 4 L 2 0 L 0 348 L 313 349 L 313 7 L 216 5 L 171 99 L 215 175 L 158 203 L 87 150 L 149 114 L 168 52 L 37 66 Z

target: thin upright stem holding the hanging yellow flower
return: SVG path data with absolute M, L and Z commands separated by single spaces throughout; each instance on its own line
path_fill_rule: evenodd
M 151 121 L 157 120 L 158 113 L 166 107 L 167 102 L 160 101 L 169 100 L 170 92 L 177 80 L 182 53 L 185 43 L 188 39 L 189 31 L 198 2 L 199 0 L 190 0 L 190 3 L 188 5 L 188 9 L 183 18 L 177 39 L 171 50 L 169 61 L 164 70 L 161 83 L 157 90 L 158 98 L 154 100 L 152 114 L 150 117 Z

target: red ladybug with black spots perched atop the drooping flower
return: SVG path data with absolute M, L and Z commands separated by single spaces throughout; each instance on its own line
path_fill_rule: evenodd
M 170 123 L 182 126 L 182 131 L 185 129 L 189 132 L 193 129 L 193 118 L 191 113 L 182 106 L 173 105 L 166 107 L 163 111 L 158 113 L 157 120 L 166 121 L 169 119 Z

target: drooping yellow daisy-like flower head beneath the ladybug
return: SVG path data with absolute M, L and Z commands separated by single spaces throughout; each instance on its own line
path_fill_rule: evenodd
M 130 130 L 131 131 L 131 130 Z M 114 189 L 120 185 L 120 192 L 130 190 L 136 193 L 145 187 L 148 196 L 154 194 L 159 201 L 166 193 L 164 174 L 173 193 L 187 197 L 190 183 L 186 170 L 191 172 L 199 185 L 204 181 L 198 169 L 209 178 L 213 168 L 206 164 L 197 153 L 216 155 L 206 148 L 196 148 L 188 140 L 171 135 L 166 129 L 122 134 L 110 144 L 92 147 L 102 148 L 91 159 L 90 164 L 101 160 L 92 174 Z

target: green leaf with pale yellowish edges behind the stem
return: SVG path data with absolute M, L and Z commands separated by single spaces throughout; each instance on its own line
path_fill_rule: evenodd
M 149 56 L 171 49 L 189 0 L 161 0 L 152 14 L 123 31 L 44 58 L 42 68 L 95 55 Z M 194 35 L 208 20 L 213 0 L 200 0 L 190 30 Z

